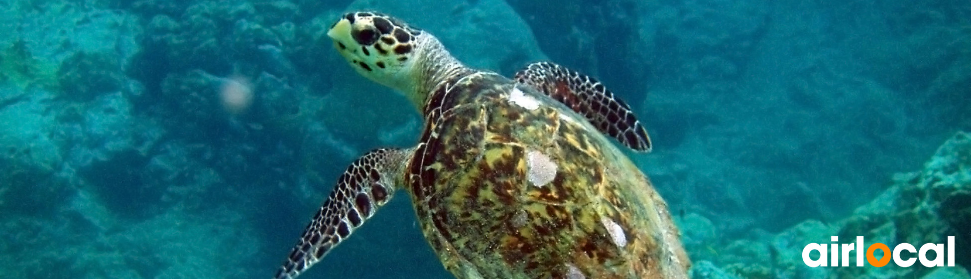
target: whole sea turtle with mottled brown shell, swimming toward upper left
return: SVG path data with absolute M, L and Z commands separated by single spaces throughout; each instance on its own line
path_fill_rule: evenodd
M 514 79 L 464 66 L 428 32 L 373 12 L 327 36 L 361 75 L 423 115 L 419 144 L 378 149 L 338 179 L 275 278 L 294 278 L 396 190 L 457 278 L 686 278 L 664 200 L 608 140 L 650 151 L 630 108 L 551 62 Z

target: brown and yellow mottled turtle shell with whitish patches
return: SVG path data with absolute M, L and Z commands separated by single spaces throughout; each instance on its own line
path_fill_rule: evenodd
M 583 116 L 492 73 L 429 98 L 405 183 L 457 278 L 686 278 L 666 203 Z

